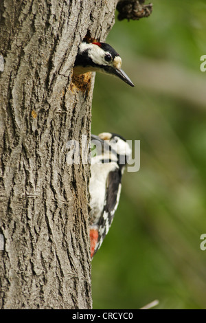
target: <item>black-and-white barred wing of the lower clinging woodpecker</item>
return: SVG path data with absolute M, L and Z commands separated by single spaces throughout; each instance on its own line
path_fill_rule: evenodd
M 107 183 L 106 183 L 106 196 L 104 201 L 104 210 L 100 216 L 99 225 L 99 235 L 98 243 L 95 245 L 95 252 L 100 249 L 102 242 L 108 233 L 108 230 L 113 221 L 115 211 L 117 210 L 117 205 L 119 203 L 119 197 L 121 192 L 121 179 L 122 173 L 119 168 L 108 173 Z

